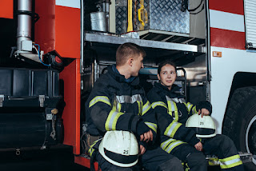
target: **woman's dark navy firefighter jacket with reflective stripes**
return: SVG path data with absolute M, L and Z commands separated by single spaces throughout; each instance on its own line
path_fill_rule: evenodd
M 192 105 L 185 101 L 182 94 L 177 93 L 179 89 L 178 85 L 172 85 L 169 90 L 161 83 L 155 82 L 153 89 L 147 94 L 157 116 L 161 147 L 167 153 L 185 143 L 196 145 L 199 140 L 194 130 L 186 128 L 186 121 L 192 114 L 198 113 L 198 109 L 206 108 L 211 113 L 209 101 Z

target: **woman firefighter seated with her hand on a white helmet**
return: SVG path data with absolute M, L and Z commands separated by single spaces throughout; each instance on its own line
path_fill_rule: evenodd
M 209 101 L 201 101 L 198 105 L 186 102 L 179 93 L 180 87 L 174 84 L 176 71 L 170 60 L 161 62 L 158 66 L 159 82 L 155 82 L 147 94 L 157 116 L 161 148 L 185 161 L 190 171 L 207 170 L 205 155 L 218 157 L 223 170 L 243 170 L 238 151 L 229 137 L 218 134 L 199 140 L 193 129 L 186 128 L 186 121 L 192 114 L 210 115 L 212 106 Z

